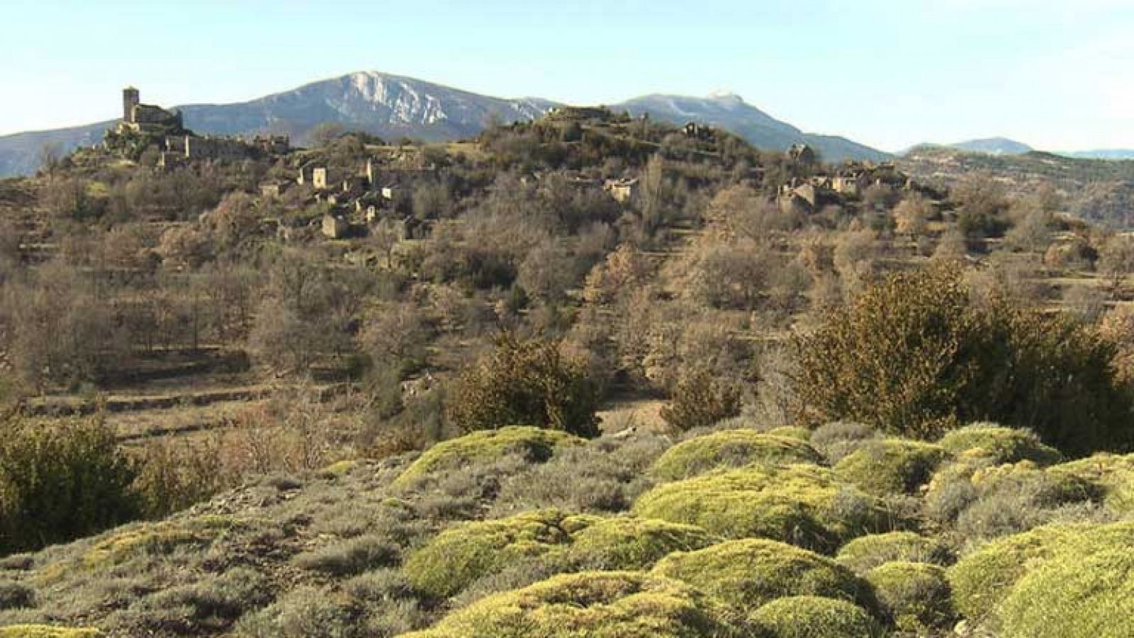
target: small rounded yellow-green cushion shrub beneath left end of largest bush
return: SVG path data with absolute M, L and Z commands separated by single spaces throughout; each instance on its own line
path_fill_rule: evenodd
M 835 474 L 870 494 L 913 494 L 929 483 L 946 456 L 942 448 L 931 443 L 875 441 L 840 460 Z

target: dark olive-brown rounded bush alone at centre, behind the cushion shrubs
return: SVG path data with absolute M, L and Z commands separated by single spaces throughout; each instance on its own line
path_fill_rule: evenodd
M 490 357 L 462 373 L 447 412 L 464 432 L 525 424 L 593 437 L 599 399 L 586 363 L 562 355 L 559 343 L 505 334 Z

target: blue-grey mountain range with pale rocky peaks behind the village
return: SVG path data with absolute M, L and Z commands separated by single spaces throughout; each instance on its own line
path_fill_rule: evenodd
M 117 103 L 118 96 L 108 95 L 108 100 Z M 388 139 L 457 139 L 476 135 L 492 118 L 500 121 L 530 120 L 557 105 L 539 97 L 492 97 L 409 77 L 362 71 L 248 102 L 188 104 L 178 109 L 185 116 L 186 126 L 198 134 L 287 134 L 302 144 L 306 135 L 323 122 L 336 122 L 347 129 L 365 130 Z M 675 124 L 697 121 L 725 128 L 762 148 L 784 150 L 795 143 L 806 143 L 818 148 L 828 161 L 878 161 L 889 156 L 843 137 L 805 134 L 733 94 L 708 97 L 646 95 L 611 104 L 610 108 L 629 111 L 634 116 L 650 113 Z M 69 152 L 77 146 L 96 144 L 102 139 L 103 131 L 115 124 L 116 120 L 108 120 L 2 136 L 0 177 L 34 172 L 40 163 L 40 151 L 45 145 Z

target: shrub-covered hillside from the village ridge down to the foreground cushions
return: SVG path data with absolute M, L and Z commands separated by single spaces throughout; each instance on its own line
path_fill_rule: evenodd
M 323 133 L 0 182 L 0 638 L 1134 627 L 1134 239 L 1056 189 Z

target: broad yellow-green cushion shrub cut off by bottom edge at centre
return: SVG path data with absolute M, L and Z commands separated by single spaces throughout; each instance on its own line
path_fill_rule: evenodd
M 405 638 L 739 638 L 726 607 L 684 582 L 638 572 L 556 576 L 484 598 Z

